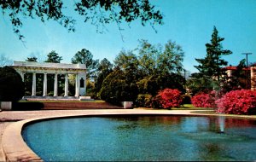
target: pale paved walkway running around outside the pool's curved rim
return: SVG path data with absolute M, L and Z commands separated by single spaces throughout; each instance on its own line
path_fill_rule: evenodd
M 9 124 L 24 119 L 38 119 L 44 117 L 76 116 L 76 115 L 97 115 L 97 114 L 166 114 L 166 115 L 209 115 L 199 112 L 201 110 L 148 110 L 143 108 L 135 109 L 94 109 L 94 110 L 40 110 L 40 111 L 4 111 L 0 112 L 0 161 L 4 161 L 2 149 L 3 131 Z M 204 110 L 205 111 L 205 110 Z M 214 115 L 214 114 L 213 114 Z M 217 114 L 216 114 L 217 115 Z M 246 116 L 247 117 L 247 116 Z M 251 116 L 256 119 L 256 116 Z

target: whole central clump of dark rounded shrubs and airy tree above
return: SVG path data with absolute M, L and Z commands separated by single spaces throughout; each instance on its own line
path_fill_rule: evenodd
M 135 101 L 137 107 L 149 107 L 144 95 L 154 96 L 166 88 L 184 92 L 185 80 L 178 74 L 182 61 L 183 50 L 175 42 L 168 41 L 162 50 L 160 45 L 142 40 L 136 50 L 120 51 L 114 60 L 116 70 L 104 80 L 100 96 L 102 100 Z

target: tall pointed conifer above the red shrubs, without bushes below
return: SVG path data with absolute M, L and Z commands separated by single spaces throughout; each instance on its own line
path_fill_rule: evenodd
M 200 65 L 195 66 L 202 74 L 215 78 L 214 80 L 219 81 L 222 75 L 222 67 L 228 64 L 227 61 L 221 59 L 223 55 L 230 55 L 232 52 L 228 49 L 223 49 L 221 42 L 224 38 L 218 36 L 218 30 L 213 27 L 211 43 L 207 43 L 207 56 L 204 59 L 195 59 Z

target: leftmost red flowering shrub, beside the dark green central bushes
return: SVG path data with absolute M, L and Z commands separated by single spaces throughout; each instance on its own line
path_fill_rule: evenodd
M 158 95 L 154 98 L 154 105 L 160 105 L 160 107 L 163 108 L 172 108 L 172 107 L 179 107 L 182 98 L 181 98 L 181 92 L 177 89 L 165 89 L 161 90 Z

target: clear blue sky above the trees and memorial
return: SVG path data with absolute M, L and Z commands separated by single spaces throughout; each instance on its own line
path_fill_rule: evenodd
M 67 2 L 67 1 L 64 1 Z M 115 24 L 108 25 L 108 31 L 97 33 L 96 27 L 84 24 L 76 16 L 76 32 L 67 29 L 55 21 L 24 20 L 21 32 L 26 37 L 26 44 L 20 42 L 12 31 L 9 18 L 0 14 L 0 55 L 13 61 L 25 61 L 27 57 L 38 56 L 44 61 L 50 51 L 55 50 L 63 57 L 63 63 L 70 63 L 71 58 L 81 49 L 88 49 L 94 59 L 107 58 L 113 61 L 121 49 L 137 48 L 138 39 L 149 43 L 164 45 L 168 40 L 183 47 L 185 57 L 183 67 L 190 72 L 197 72 L 195 58 L 206 56 L 206 43 L 210 43 L 213 26 L 219 36 L 225 38 L 224 49 L 233 54 L 224 56 L 231 65 L 237 65 L 245 55 L 249 62 L 256 62 L 256 1 L 255 0 L 154 0 L 156 9 L 164 14 L 164 25 L 141 26 L 139 21 L 130 26 L 122 24 L 124 41 Z M 65 3 L 67 4 L 67 3 Z M 70 3 L 73 5 L 72 3 Z M 67 9 L 67 14 L 73 15 Z

